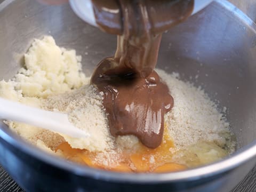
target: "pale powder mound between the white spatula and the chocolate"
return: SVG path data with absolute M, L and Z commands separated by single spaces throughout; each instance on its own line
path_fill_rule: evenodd
M 102 99 L 94 86 L 85 85 L 77 91 L 49 97 L 43 106 L 47 110 L 67 113 L 70 122 L 90 133 L 86 139 L 63 136 L 73 148 L 105 151 L 114 148 L 114 138 L 108 128 Z

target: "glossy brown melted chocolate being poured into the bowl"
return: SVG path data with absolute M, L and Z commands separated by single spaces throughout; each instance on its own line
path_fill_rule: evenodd
M 158 147 L 164 115 L 173 107 L 168 87 L 154 68 L 162 33 L 189 17 L 194 0 L 93 0 L 98 26 L 117 34 L 114 57 L 103 59 L 91 84 L 104 93 L 110 132 L 135 135 Z

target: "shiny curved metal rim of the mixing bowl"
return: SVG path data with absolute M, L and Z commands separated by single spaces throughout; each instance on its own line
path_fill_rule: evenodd
M 0 4 L 0 11 L 4 10 L 10 3 L 15 0 L 5 0 Z M 249 26 L 256 34 L 255 23 L 247 17 L 241 10 L 229 3 L 227 0 L 214 0 L 222 7 L 235 14 L 235 16 Z M 112 182 L 132 182 L 132 183 L 166 183 L 166 182 L 182 182 L 193 181 L 202 178 L 208 178 L 217 175 L 249 161 L 256 156 L 256 140 L 249 145 L 238 149 L 234 154 L 214 162 L 209 165 L 196 167 L 179 172 L 171 173 L 118 173 L 105 170 L 97 170 L 91 167 L 78 165 L 76 163 L 67 162 L 65 159 L 46 153 L 43 150 L 38 150 L 36 146 L 31 145 L 23 140 L 17 134 L 13 133 L 7 125 L 0 122 L 0 137 L 13 147 L 19 149 L 27 155 L 33 156 L 45 163 L 51 164 L 59 169 L 66 170 L 78 176 L 86 176 L 94 179 L 100 179 Z

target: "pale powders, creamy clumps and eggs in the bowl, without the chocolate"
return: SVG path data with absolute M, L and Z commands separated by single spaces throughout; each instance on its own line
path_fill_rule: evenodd
M 54 63 L 54 65 L 53 65 Z M 54 39 L 35 39 L 25 54 L 25 66 L 13 79 L 0 82 L 0 97 L 52 111 L 62 111 L 76 127 L 91 134 L 70 138 L 31 125 L 6 121 L 10 129 L 54 155 L 113 171 L 175 171 L 218 161 L 233 153 L 229 123 L 203 90 L 156 70 L 175 101 L 164 116 L 164 137 L 155 149 L 132 135 L 113 137 L 103 93 L 81 72 L 75 50 L 58 47 Z

